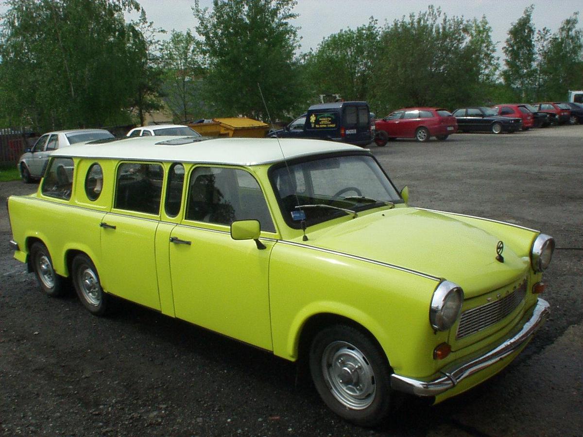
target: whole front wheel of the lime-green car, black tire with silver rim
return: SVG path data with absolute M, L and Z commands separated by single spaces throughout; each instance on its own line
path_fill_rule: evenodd
M 360 330 L 333 325 L 319 332 L 310 347 L 310 372 L 322 400 L 343 419 L 373 427 L 391 413 L 387 357 Z

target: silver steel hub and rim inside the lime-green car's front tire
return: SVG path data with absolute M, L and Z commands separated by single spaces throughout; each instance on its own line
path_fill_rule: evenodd
M 374 372 L 364 354 L 346 341 L 334 341 L 322 354 L 322 374 L 343 406 L 363 410 L 373 403 Z

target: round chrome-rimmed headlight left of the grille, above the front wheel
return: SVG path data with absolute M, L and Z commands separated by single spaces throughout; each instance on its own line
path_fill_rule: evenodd
M 450 281 L 443 281 L 433 292 L 429 321 L 438 331 L 447 331 L 454 325 L 463 304 L 463 290 Z

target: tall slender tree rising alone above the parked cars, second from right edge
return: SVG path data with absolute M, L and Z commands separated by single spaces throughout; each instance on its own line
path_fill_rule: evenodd
M 506 44 L 502 48 L 505 69 L 504 83 L 510 86 L 522 101 L 533 97 L 535 86 L 535 26 L 532 23 L 534 6 L 528 6 L 522 16 L 508 30 Z

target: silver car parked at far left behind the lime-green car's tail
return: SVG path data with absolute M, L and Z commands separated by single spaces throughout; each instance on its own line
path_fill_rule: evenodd
M 43 177 L 44 166 L 49 154 L 61 147 L 71 146 L 76 143 L 114 138 L 105 129 L 75 129 L 74 131 L 48 132 L 41 136 L 31 149 L 24 150 L 24 154 L 18 160 L 20 177 L 25 184 L 33 179 Z

